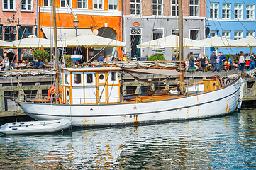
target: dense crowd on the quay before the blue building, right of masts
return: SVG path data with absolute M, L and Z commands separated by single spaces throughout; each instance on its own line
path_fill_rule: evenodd
M 221 72 L 222 70 L 228 72 L 230 69 L 239 69 L 244 72 L 246 64 L 245 55 L 241 51 L 237 56 L 238 57 L 233 59 L 230 55 L 228 57 L 223 55 L 223 52 L 216 53 L 213 51 L 209 58 L 205 55 L 195 58 L 193 52 L 190 52 L 185 61 L 185 68 L 196 67 L 198 72 L 206 72 L 208 70 L 211 70 L 211 72 Z M 252 53 L 249 56 L 250 66 L 249 69 L 247 69 L 248 71 L 255 69 L 255 54 Z M 189 70 L 189 72 L 191 73 L 191 70 Z M 194 70 L 192 72 L 194 72 Z

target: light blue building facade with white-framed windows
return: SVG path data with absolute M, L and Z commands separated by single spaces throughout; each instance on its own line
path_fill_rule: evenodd
M 255 0 L 208 0 L 206 1 L 206 38 L 213 36 L 233 40 L 255 36 Z M 214 48 L 206 48 L 206 55 L 211 55 Z M 250 53 L 247 47 L 218 47 L 218 52 L 236 54 L 243 51 Z M 256 48 L 252 48 L 256 53 Z

